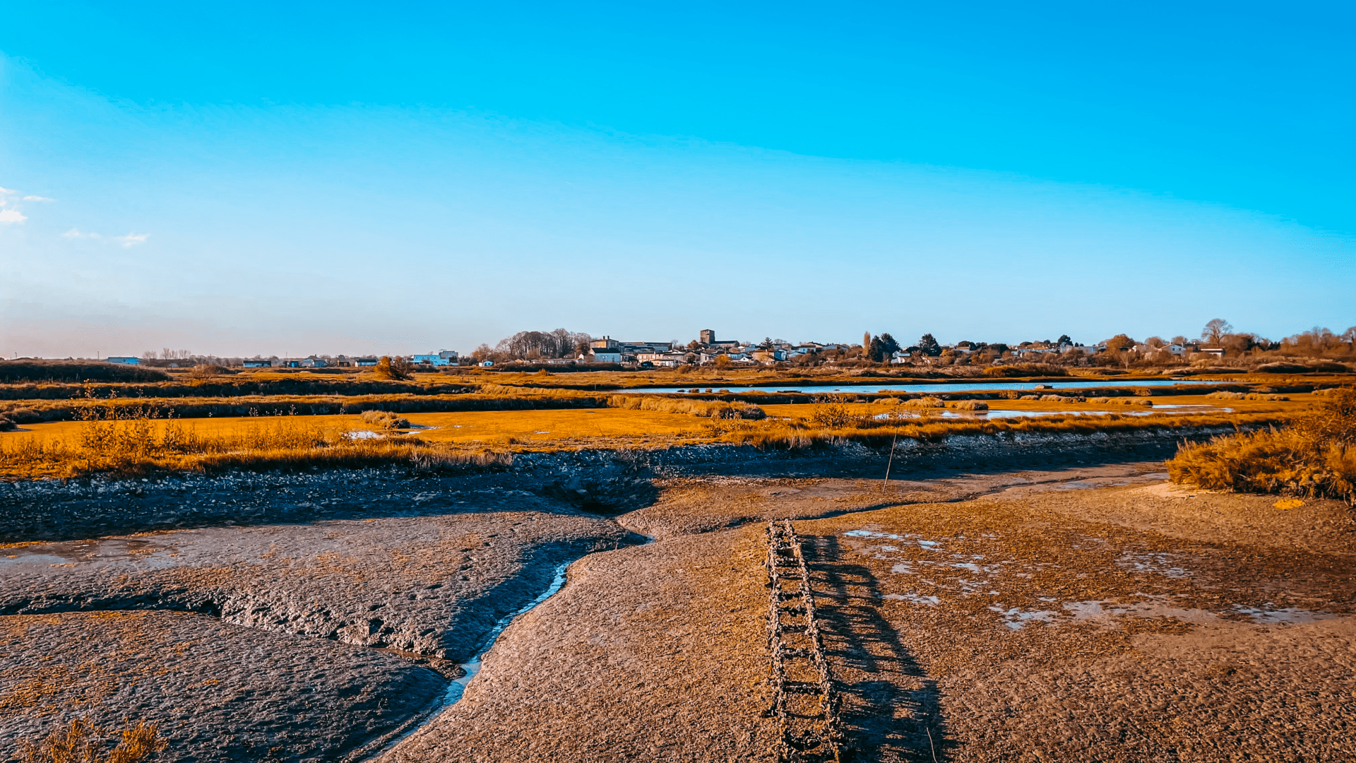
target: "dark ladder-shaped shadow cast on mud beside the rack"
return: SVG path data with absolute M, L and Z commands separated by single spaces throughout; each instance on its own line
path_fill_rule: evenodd
M 937 684 L 880 615 L 871 569 L 854 563 L 833 536 L 814 538 L 804 554 L 826 657 L 843 695 L 850 759 L 948 760 Z

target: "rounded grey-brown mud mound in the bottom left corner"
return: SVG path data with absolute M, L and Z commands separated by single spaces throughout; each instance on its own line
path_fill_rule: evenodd
M 188 612 L 0 616 L 0 758 L 58 720 L 156 722 L 165 760 L 343 760 L 446 680 L 395 656 Z

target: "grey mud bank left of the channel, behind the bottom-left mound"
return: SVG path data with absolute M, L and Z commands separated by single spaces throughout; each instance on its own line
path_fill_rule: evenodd
M 0 548 L 0 615 L 202 612 L 456 661 L 556 565 L 628 540 L 599 517 L 488 512 L 26 543 Z

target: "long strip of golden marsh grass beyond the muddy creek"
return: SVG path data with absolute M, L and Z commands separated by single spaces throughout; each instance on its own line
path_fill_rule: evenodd
M 494 390 L 499 394 L 500 390 Z M 556 391 L 548 390 L 546 394 Z M 518 391 L 504 399 L 522 401 Z M 572 392 L 579 394 L 579 392 Z M 583 392 L 587 396 L 587 392 Z M 628 407 L 545 407 L 449 413 L 306 417 L 229 417 L 165 420 L 140 406 L 118 406 L 87 421 L 26 425 L 20 432 L 0 433 L 0 477 L 75 477 L 94 472 L 152 472 L 164 470 L 346 467 L 382 463 L 460 466 L 499 463 L 513 451 L 576 448 L 666 448 L 697 443 L 753 444 L 761 448 L 799 448 L 819 443 L 884 437 L 940 439 L 949 434 L 999 432 L 1128 430 L 1180 426 L 1258 426 L 1287 421 L 1307 410 L 1323 395 L 1295 395 L 1295 401 L 1227 401 L 1235 413 L 1220 407 L 1184 409 L 1191 413 L 1130 415 L 1045 415 L 1040 418 L 990 420 L 983 411 L 957 411 L 942 418 L 936 407 L 907 407 L 896 398 L 875 402 L 842 402 L 751 406 L 724 401 L 690 401 L 660 396 L 614 395 Z M 1142 398 L 1124 398 L 1135 401 Z M 1117 398 L 1120 401 L 1120 398 Z M 1200 405 L 1203 396 L 1154 398 L 1159 403 Z M 582 401 L 580 401 L 582 402 Z M 925 401 L 948 409 L 983 402 Z M 1127 411 L 1125 407 L 1092 402 L 987 401 L 994 411 Z M 578 403 L 575 403 L 578 405 Z M 636 406 L 636 407 L 629 407 Z M 137 411 L 140 409 L 140 414 Z M 647 410 L 660 409 L 660 410 Z M 132 411 L 129 414 L 129 411 Z M 148 413 L 149 411 L 149 413 Z M 690 413 L 686 413 L 690 411 Z M 732 411 L 772 417 L 767 421 L 720 418 Z M 913 414 L 909 418 L 900 414 Z M 693 415 L 696 414 L 696 415 Z M 708 415 L 702 415 L 708 414 Z M 715 417 L 709 415 L 715 414 Z M 892 418 L 876 420 L 877 414 Z M 111 420 L 110 420 L 111 415 Z M 365 421 L 370 420 L 370 421 Z M 405 425 L 416 428 L 400 433 Z M 353 430 L 380 437 L 354 440 Z M 488 455 L 487 455 L 488 453 Z M 496 455 L 498 453 L 498 455 Z M 487 460 L 488 459 L 488 460 Z

